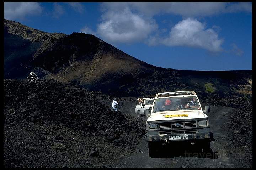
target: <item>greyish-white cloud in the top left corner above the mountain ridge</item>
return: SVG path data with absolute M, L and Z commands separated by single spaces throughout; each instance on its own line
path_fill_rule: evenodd
M 8 20 L 23 19 L 40 13 L 42 7 L 38 2 L 4 2 L 4 18 Z

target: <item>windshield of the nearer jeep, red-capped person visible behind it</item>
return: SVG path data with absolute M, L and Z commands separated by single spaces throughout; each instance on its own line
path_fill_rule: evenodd
M 165 97 L 155 99 L 153 112 L 175 110 L 201 110 L 197 97 Z

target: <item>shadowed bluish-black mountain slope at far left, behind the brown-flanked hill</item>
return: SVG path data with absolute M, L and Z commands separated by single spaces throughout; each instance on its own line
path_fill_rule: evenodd
M 4 77 L 24 79 L 33 67 L 26 66 L 42 48 L 54 46 L 65 34 L 46 33 L 4 19 Z

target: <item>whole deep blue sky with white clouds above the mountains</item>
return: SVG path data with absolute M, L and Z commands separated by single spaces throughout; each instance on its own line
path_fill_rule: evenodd
M 251 2 L 5 2 L 4 18 L 93 34 L 158 67 L 252 70 Z

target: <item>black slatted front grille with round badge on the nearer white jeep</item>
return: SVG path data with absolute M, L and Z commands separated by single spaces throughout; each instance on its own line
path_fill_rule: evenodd
M 176 124 L 179 123 L 180 126 L 177 127 Z M 195 120 L 193 121 L 184 121 L 184 122 L 167 122 L 159 124 L 159 129 L 171 129 L 171 128 L 188 128 L 188 127 L 197 127 Z

